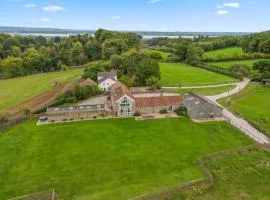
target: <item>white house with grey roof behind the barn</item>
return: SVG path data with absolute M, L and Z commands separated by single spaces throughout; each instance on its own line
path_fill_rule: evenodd
M 103 91 L 108 91 L 117 82 L 116 72 L 99 72 L 97 76 L 98 87 Z

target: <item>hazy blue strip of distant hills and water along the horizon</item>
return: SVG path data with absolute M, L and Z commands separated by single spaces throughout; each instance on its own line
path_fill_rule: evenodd
M 248 35 L 247 32 L 157 32 L 157 31 L 123 31 L 134 32 L 143 36 L 238 36 Z M 95 30 L 73 30 L 73 29 L 55 29 L 55 28 L 28 28 L 28 27 L 8 27 L 0 26 L 0 33 L 40 33 L 40 34 L 93 34 Z

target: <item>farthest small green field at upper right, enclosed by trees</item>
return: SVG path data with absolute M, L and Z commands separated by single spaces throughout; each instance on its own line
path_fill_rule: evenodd
M 244 54 L 244 52 L 241 47 L 229 47 L 214 51 L 207 51 L 203 54 L 203 56 L 205 58 L 226 58 L 240 56 L 242 54 Z

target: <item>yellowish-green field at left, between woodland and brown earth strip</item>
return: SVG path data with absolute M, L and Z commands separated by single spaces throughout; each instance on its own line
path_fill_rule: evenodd
M 52 83 L 73 80 L 82 70 L 38 74 L 22 78 L 0 80 L 0 113 L 52 88 Z

